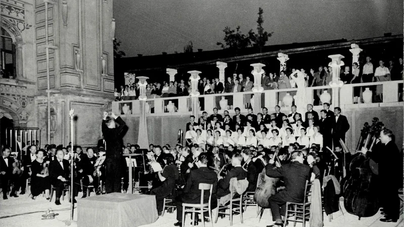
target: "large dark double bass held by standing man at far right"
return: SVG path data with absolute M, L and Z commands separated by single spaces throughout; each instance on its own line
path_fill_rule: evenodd
M 374 121 L 372 126 L 365 123 L 361 133 L 361 139 L 363 138 L 364 142 L 358 144 L 357 148 L 366 147 L 371 151 L 382 127 L 383 124 L 378 121 Z M 341 144 L 345 149 L 346 146 L 342 140 Z M 343 186 L 344 207 L 348 213 L 357 215 L 359 219 L 373 216 L 379 210 L 377 169 L 377 164 L 362 153 L 359 153 L 349 164 L 350 177 Z

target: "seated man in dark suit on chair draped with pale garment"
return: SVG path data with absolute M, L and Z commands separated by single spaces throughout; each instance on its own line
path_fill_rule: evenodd
M 231 165 L 233 168 L 227 173 L 225 178 L 219 176 L 220 180 L 218 182 L 218 190 L 215 195 L 215 200 L 230 194 L 230 180 L 232 178 L 237 178 L 237 181 L 247 178 L 247 172 L 241 167 L 242 159 L 243 156 L 241 156 L 240 153 L 233 154 L 231 158 Z

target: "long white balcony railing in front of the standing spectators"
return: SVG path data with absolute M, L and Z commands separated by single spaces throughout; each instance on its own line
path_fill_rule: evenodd
M 361 83 L 361 84 L 345 84 L 339 90 L 339 100 L 340 107 L 376 107 L 376 106 L 390 106 L 390 105 L 399 105 L 400 101 L 402 101 L 402 85 L 403 81 L 386 81 L 386 82 L 373 82 L 373 83 Z M 379 87 L 378 87 L 379 86 Z M 365 100 L 367 97 L 363 92 L 366 88 L 369 87 L 371 91 L 373 91 L 373 95 L 371 98 L 371 102 L 369 103 L 361 103 L 362 100 Z M 354 104 L 354 89 L 360 89 L 360 103 Z M 380 100 L 375 100 L 375 92 L 376 88 L 378 91 L 381 91 Z M 246 112 L 248 106 L 253 106 L 251 102 L 254 101 L 254 98 L 249 99 L 249 97 L 254 95 L 262 95 L 261 100 L 261 108 L 267 107 L 271 109 L 275 105 L 280 105 L 282 109 L 286 109 L 286 111 L 290 110 L 290 107 L 285 106 L 285 103 L 282 101 L 282 97 L 285 95 L 293 95 L 297 91 L 297 88 L 291 89 L 276 89 L 276 90 L 265 90 L 263 93 L 253 93 L 251 91 L 248 92 L 235 92 L 235 93 L 222 93 L 222 94 L 207 94 L 207 95 L 199 95 L 199 109 L 198 112 L 201 114 L 203 111 L 207 111 L 209 113 L 212 112 L 213 108 L 218 108 L 220 113 L 223 113 L 224 110 L 234 109 L 235 107 L 239 107 L 241 112 Z M 332 100 L 332 89 L 330 86 L 318 86 L 318 87 L 307 87 L 306 88 L 306 97 L 307 103 L 314 104 L 315 103 L 315 95 L 318 93 L 323 93 L 327 91 L 330 93 L 331 100 L 330 104 L 333 106 Z M 224 97 L 227 100 L 227 104 L 221 106 L 220 100 Z M 232 103 L 229 103 L 231 101 Z M 367 100 L 368 101 L 368 100 Z M 146 100 L 149 107 L 146 107 L 147 116 L 169 116 L 169 115 L 190 115 L 192 111 L 191 106 L 191 97 L 190 96 L 178 96 L 178 97 L 167 97 L 167 98 L 150 98 Z M 172 104 L 171 104 L 171 103 Z M 246 105 L 246 103 L 250 103 Z M 318 102 L 317 105 L 320 105 L 321 102 Z M 128 107 L 124 107 L 124 106 Z M 172 107 L 174 105 L 174 107 Z M 112 103 L 112 111 L 123 115 L 125 117 L 130 116 L 138 116 L 140 114 L 140 101 L 139 100 L 126 100 L 126 101 L 114 101 Z M 315 109 L 321 108 L 316 107 Z M 256 110 L 255 112 L 260 112 L 260 110 Z M 233 113 L 232 111 L 230 111 Z

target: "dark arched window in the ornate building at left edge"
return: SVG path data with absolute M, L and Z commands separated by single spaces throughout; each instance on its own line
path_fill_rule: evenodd
M 11 35 L 3 28 L 0 31 L 0 77 L 16 78 L 16 46 Z

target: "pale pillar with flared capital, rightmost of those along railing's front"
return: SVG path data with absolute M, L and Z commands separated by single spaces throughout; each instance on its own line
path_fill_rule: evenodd
M 331 62 L 328 66 L 332 68 L 332 81 L 329 84 L 332 88 L 332 105 L 333 107 L 339 106 L 339 89 L 344 85 L 344 83 L 339 78 L 339 73 L 341 71 L 341 66 L 344 66 L 344 62 L 341 59 L 344 58 L 341 54 L 329 55 L 328 58 Z

